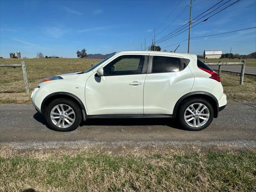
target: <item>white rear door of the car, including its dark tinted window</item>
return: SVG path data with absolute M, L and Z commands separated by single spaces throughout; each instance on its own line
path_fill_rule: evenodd
M 144 114 L 172 114 L 180 97 L 189 93 L 194 76 L 190 60 L 175 55 L 151 55 L 144 84 Z

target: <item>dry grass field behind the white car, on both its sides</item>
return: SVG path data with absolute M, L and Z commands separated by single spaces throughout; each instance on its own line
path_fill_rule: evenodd
M 0 63 L 19 63 L 19 59 L 0 59 Z M 58 74 L 85 71 L 96 64 L 99 59 L 26 59 L 30 90 L 38 86 L 41 78 Z M 216 62 L 216 60 L 207 60 Z M 228 60 L 236 61 L 236 60 Z M 255 66 L 255 59 L 250 59 L 248 64 Z M 226 60 L 222 60 L 226 62 Z M 248 66 L 248 65 L 247 65 Z M 228 102 L 255 101 L 256 77 L 245 75 L 244 85 L 239 85 L 239 76 L 235 73 L 222 72 L 222 84 L 224 92 L 228 96 Z M 30 92 L 31 94 L 31 92 Z M 0 68 L 0 103 L 30 103 L 30 94 L 25 93 L 21 68 Z

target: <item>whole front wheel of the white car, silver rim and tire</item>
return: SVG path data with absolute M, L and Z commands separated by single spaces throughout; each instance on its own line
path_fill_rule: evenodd
M 72 131 L 81 120 L 81 110 L 72 100 L 60 98 L 52 101 L 46 109 L 46 120 L 56 131 Z

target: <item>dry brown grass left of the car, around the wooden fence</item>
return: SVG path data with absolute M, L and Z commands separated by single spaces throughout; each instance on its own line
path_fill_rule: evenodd
M 30 93 L 26 94 L 20 67 L 0 68 L 0 103 L 30 103 L 32 90 L 38 86 L 44 77 L 85 71 L 100 59 L 25 59 L 30 86 Z M 20 63 L 21 59 L 0 59 L 0 63 Z

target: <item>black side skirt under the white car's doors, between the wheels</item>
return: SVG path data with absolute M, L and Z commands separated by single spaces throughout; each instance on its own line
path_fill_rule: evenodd
M 86 115 L 86 119 L 110 119 L 110 118 L 172 118 L 169 114 L 110 114 L 110 115 Z

